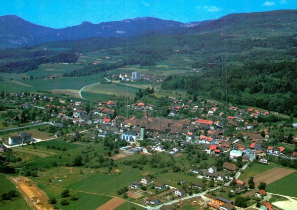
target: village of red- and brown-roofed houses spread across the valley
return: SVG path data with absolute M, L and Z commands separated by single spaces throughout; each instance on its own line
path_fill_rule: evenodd
M 253 190 L 258 188 L 254 181 L 251 179 L 247 183 L 247 180 L 240 180 L 240 174 L 254 163 L 269 165 L 270 162 L 277 162 L 296 168 L 297 151 L 286 148 L 296 143 L 297 139 L 292 135 L 285 136 L 282 133 L 281 136 L 280 132 L 271 132 L 275 127 L 267 126 L 270 122 L 263 122 L 271 117 L 269 111 L 258 111 L 250 107 L 221 107 L 218 103 L 198 101 L 197 98 L 182 100 L 171 96 L 162 99 L 169 104 L 164 117 L 151 114 L 161 112 L 163 107 L 147 104 L 142 100 L 121 105 L 131 110 L 130 116 L 119 115 L 119 103 L 111 100 L 97 104 L 93 102 L 90 105 L 75 100 L 62 101 L 57 96 L 47 97 L 26 92 L 5 93 L 2 100 L 3 104 L 11 103 L 19 107 L 18 114 L 13 112 L 16 110 L 7 111 L 12 117 L 7 118 L 10 120 L 5 121 L 5 124 L 13 124 L 16 120 L 20 122 L 20 127 L 49 123 L 46 126 L 51 132 L 50 139 L 64 138 L 68 142 L 75 142 L 89 138 L 90 142 L 98 142 L 103 141 L 106 136 L 117 136 L 115 141 L 126 143 L 111 157 L 114 160 L 137 153 L 145 156 L 162 153 L 171 156 L 172 160 L 182 154 L 188 154 L 188 158 L 192 158 L 194 154 L 196 160 L 192 161 L 189 168 L 176 166 L 173 171 L 187 171 L 197 181 L 181 179 L 178 183 L 180 188 L 177 188 L 166 183 L 166 180 L 154 180 L 148 174 L 125 188 L 125 194 L 135 199 L 142 198 L 136 203 L 148 206 L 148 209 L 149 206 L 162 210 L 179 208 L 182 206 L 180 198 L 183 198 L 185 201 L 192 199 L 191 202 L 188 201 L 189 205 L 234 210 L 237 207 L 247 207 L 247 202 L 229 199 L 247 193 L 253 197 L 250 197 L 251 204 L 270 210 L 271 204 L 265 200 L 265 187 Z M 32 112 L 35 114 L 31 114 Z M 133 113 L 142 116 L 137 117 Z M 34 119 L 30 119 L 32 115 Z M 93 131 L 85 136 L 83 132 L 86 130 Z M 25 130 L 1 141 L 1 152 L 4 152 L 10 147 L 41 140 Z M 214 165 L 203 162 L 209 158 L 217 160 Z M 265 179 L 256 180 L 256 184 L 266 185 L 264 181 Z M 223 186 L 230 191 L 227 198 L 220 196 L 220 193 L 219 196 L 213 193 Z M 168 203 L 170 205 L 166 205 Z

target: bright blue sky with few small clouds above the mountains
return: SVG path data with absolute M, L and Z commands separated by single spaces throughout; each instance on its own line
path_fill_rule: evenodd
M 0 0 L 0 16 L 51 28 L 156 17 L 183 23 L 242 12 L 297 9 L 297 0 Z

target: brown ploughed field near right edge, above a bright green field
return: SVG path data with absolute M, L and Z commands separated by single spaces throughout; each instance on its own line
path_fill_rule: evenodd
M 278 179 L 283 178 L 284 176 L 287 176 L 291 173 L 294 173 L 296 170 L 293 169 L 287 169 L 287 168 L 271 168 L 269 170 L 266 170 L 263 173 L 259 173 L 254 176 L 254 182 L 255 187 L 257 188 L 258 184 L 260 182 L 265 182 L 266 185 L 275 182 Z M 248 182 L 248 178 L 244 180 L 246 183 Z

